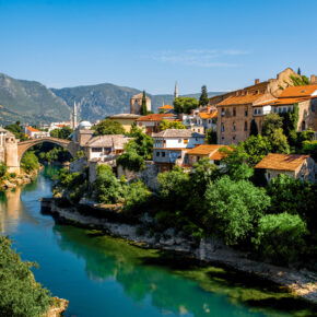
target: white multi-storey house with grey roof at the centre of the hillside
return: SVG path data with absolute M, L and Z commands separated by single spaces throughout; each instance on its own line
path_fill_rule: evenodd
M 187 151 L 204 142 L 203 134 L 185 129 L 166 129 L 152 137 L 153 161 L 158 164 L 160 172 L 171 171 L 175 164 L 187 164 Z

